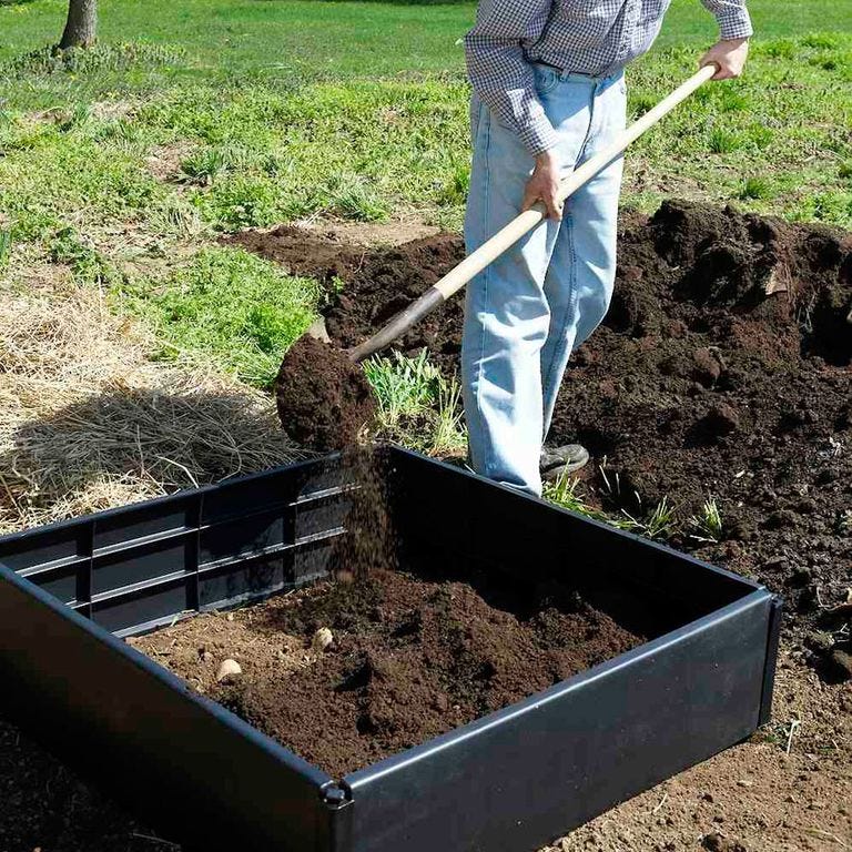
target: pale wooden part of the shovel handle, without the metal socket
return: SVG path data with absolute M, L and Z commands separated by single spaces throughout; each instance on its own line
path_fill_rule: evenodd
M 585 183 L 588 183 L 598 172 L 609 165 L 635 140 L 652 128 L 661 118 L 668 115 L 681 101 L 689 98 L 692 92 L 703 85 L 719 70 L 718 65 L 704 65 L 679 85 L 671 94 L 663 98 L 652 110 L 635 121 L 619 136 L 587 160 L 579 169 L 569 174 L 559 187 L 559 200 L 565 201 L 572 192 L 577 192 Z M 524 234 L 531 231 L 545 219 L 545 206 L 539 203 L 514 219 L 501 231 L 498 231 L 490 240 L 483 243 L 473 254 L 465 257 L 462 263 L 450 270 L 443 278 L 435 282 L 435 290 L 440 292 L 444 301 L 448 300 L 467 284 L 474 275 L 480 273 L 489 263 L 496 261 L 507 248 L 515 245 Z

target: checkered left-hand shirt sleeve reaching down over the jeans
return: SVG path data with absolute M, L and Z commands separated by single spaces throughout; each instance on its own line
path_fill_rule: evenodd
M 552 0 L 480 0 L 465 37 L 470 83 L 479 99 L 514 130 L 532 156 L 556 145 L 556 132 L 536 94 L 523 43 L 535 41 Z

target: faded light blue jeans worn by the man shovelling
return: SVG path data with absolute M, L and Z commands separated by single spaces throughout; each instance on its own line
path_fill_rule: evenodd
M 625 128 L 623 74 L 592 78 L 534 65 L 559 135 L 565 174 Z M 476 97 L 465 217 L 468 253 L 520 212 L 534 159 Z M 534 495 L 538 460 L 571 352 L 600 324 L 612 295 L 621 158 L 467 285 L 462 384 L 474 469 Z

